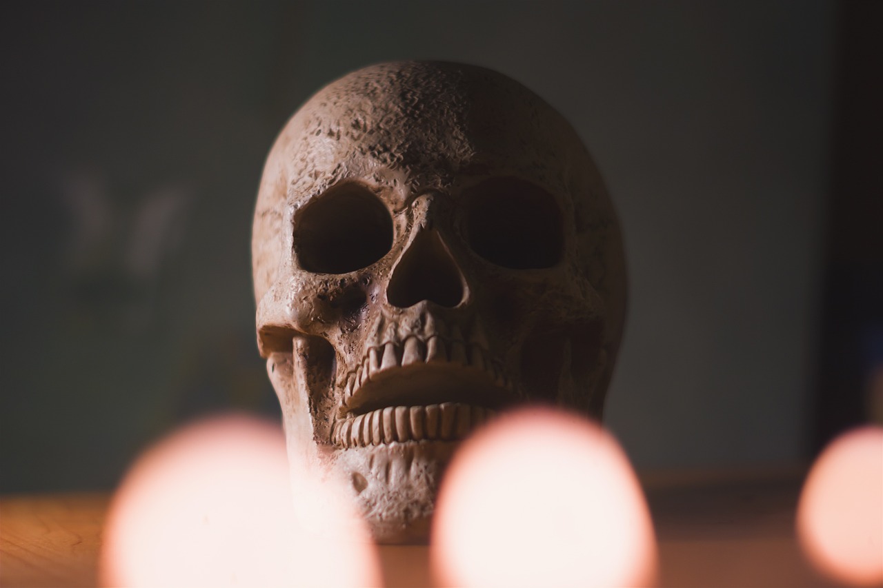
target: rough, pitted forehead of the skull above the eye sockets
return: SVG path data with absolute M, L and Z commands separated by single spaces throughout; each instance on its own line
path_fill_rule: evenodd
M 303 200 L 341 179 L 396 177 L 411 190 L 511 174 L 569 192 L 587 157 L 570 125 L 516 81 L 462 64 L 381 64 L 325 87 L 298 110 L 271 158 L 285 195 Z M 391 173 L 395 170 L 394 173 Z

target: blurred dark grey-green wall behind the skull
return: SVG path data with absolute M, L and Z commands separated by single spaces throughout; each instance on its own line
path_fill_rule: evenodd
M 106 488 L 210 411 L 275 413 L 251 215 L 275 133 L 366 64 L 494 68 L 570 119 L 619 207 L 608 425 L 639 468 L 812 449 L 834 4 L 27 3 L 3 54 L 0 491 Z

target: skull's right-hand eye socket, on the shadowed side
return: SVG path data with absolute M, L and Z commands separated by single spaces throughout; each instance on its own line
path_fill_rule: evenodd
M 472 251 L 503 268 L 551 268 L 564 243 L 555 198 L 517 177 L 499 177 L 464 192 Z

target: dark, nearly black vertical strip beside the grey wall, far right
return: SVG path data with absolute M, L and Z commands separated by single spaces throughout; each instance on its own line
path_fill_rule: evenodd
M 839 4 L 812 450 L 883 420 L 883 3 Z

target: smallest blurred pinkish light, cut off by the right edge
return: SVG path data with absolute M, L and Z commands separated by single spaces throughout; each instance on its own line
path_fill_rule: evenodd
M 844 584 L 883 584 L 883 427 L 831 442 L 812 465 L 797 507 L 810 561 Z

